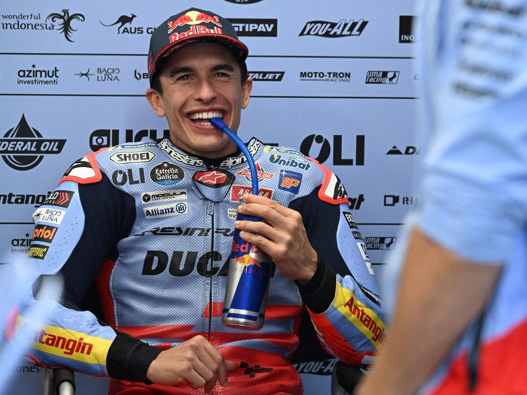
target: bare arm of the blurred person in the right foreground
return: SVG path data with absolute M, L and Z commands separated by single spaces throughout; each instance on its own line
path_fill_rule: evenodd
M 389 337 L 355 394 L 414 393 L 480 313 L 500 270 L 498 263 L 463 259 L 414 230 Z

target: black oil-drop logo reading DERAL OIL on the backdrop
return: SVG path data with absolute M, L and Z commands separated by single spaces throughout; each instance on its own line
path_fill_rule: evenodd
M 60 154 L 65 143 L 63 139 L 43 139 L 22 114 L 18 125 L 0 139 L 0 155 L 12 169 L 31 170 L 42 162 L 44 155 Z

